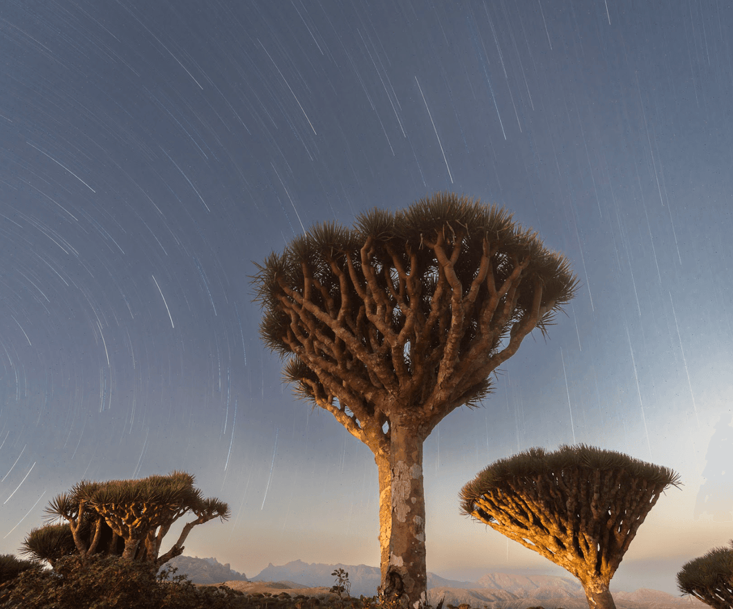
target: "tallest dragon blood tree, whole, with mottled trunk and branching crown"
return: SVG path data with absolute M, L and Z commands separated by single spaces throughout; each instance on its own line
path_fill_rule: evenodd
M 257 267 L 260 333 L 284 377 L 374 453 L 380 590 L 424 603 L 424 440 L 545 331 L 575 292 L 570 264 L 505 210 L 445 193 L 314 226 Z

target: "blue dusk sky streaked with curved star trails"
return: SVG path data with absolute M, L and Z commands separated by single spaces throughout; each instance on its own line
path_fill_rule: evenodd
M 454 191 L 581 286 L 425 443 L 428 570 L 567 575 L 457 493 L 588 443 L 679 472 L 611 582 L 674 593 L 733 537 L 731 32 L 707 0 L 4 1 L 0 553 L 81 479 L 183 469 L 232 509 L 188 555 L 378 566 L 372 454 L 282 385 L 250 277 Z

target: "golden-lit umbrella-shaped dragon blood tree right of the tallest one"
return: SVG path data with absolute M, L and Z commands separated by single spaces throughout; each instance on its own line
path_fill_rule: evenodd
M 674 471 L 594 446 L 499 459 L 460 492 L 461 511 L 578 577 L 591 609 L 615 609 L 611 577 Z

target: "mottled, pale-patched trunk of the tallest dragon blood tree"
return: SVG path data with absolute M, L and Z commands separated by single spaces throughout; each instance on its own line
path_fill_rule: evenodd
M 423 438 L 416 424 L 393 421 L 390 443 L 391 531 L 382 591 L 418 608 L 427 604 Z

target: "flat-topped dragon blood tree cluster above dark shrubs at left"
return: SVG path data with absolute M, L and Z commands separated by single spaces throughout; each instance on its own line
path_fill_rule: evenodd
M 51 566 L 63 556 L 105 553 L 144 561 L 157 570 L 183 553 L 183 542 L 196 525 L 229 517 L 229 506 L 217 498 L 204 498 L 194 487 L 194 476 L 174 471 L 167 476 L 139 480 L 83 480 L 70 492 L 54 498 L 45 509 L 54 520 L 36 528 L 23 542 L 24 553 Z M 160 555 L 163 537 L 180 517 L 195 519 L 183 526 L 174 545 Z

